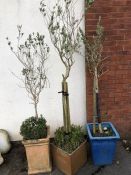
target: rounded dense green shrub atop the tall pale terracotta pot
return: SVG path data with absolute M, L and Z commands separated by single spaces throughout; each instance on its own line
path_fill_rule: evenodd
M 40 115 L 39 118 L 30 117 L 26 119 L 20 127 L 20 134 L 25 140 L 45 138 L 47 136 L 45 118 Z

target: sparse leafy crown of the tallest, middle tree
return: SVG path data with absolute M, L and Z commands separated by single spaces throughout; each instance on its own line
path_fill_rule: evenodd
M 45 19 L 51 41 L 66 68 L 64 80 L 69 77 L 71 67 L 75 62 L 74 53 L 78 53 L 81 47 L 80 23 L 84 14 L 77 19 L 75 5 L 75 0 L 57 0 L 50 9 L 46 0 L 40 2 L 40 12 Z

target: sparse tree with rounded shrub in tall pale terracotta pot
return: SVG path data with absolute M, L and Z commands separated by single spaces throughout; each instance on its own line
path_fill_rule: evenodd
M 26 119 L 21 127 L 22 143 L 28 160 L 28 174 L 51 171 L 50 161 L 50 132 L 45 118 L 38 114 L 39 96 L 47 83 L 45 63 L 48 59 L 49 47 L 44 35 L 29 34 L 24 42 L 22 26 L 17 26 L 17 49 L 7 38 L 11 51 L 23 66 L 22 78 L 19 78 L 32 100 L 35 115 Z

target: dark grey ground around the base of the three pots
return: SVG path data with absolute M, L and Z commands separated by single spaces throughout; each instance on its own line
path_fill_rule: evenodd
M 20 143 L 13 144 L 11 151 L 3 156 L 5 162 L 0 166 L 0 175 L 27 175 L 26 155 Z M 63 173 L 54 167 L 51 173 L 41 175 L 63 175 Z M 76 175 L 131 175 L 131 152 L 127 152 L 119 142 L 112 165 L 97 167 L 89 158 Z

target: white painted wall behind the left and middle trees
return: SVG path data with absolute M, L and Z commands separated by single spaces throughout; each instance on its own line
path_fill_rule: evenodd
M 21 74 L 21 64 L 10 51 L 5 38 L 8 36 L 15 43 L 16 26 L 22 24 L 25 34 L 37 31 L 44 33 L 47 43 L 51 45 L 43 17 L 39 12 L 39 2 L 39 0 L 0 0 L 0 128 L 9 132 L 11 140 L 21 139 L 19 134 L 21 122 L 34 114 L 34 108 L 25 89 L 19 88 L 21 82 L 11 73 Z M 77 14 L 80 14 L 82 9 L 84 0 L 79 0 Z M 86 123 L 85 62 L 81 56 L 75 57 L 76 63 L 68 79 L 71 120 L 74 124 L 84 125 Z M 48 63 L 50 88 L 41 94 L 39 113 L 46 117 L 52 135 L 55 129 L 63 124 L 61 95 L 57 93 L 61 90 L 63 71 L 64 66 L 51 45 Z

